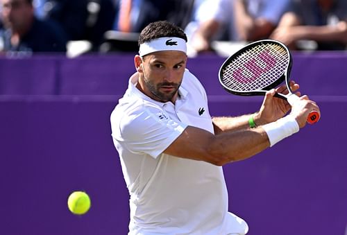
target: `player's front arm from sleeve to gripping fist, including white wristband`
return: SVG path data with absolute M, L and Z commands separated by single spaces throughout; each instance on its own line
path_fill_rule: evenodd
M 274 91 L 267 92 L 264 103 L 269 103 L 268 101 L 271 101 L 273 95 Z M 319 112 L 319 107 L 313 101 L 308 100 L 307 96 L 303 96 L 291 108 L 291 114 L 276 122 L 260 125 L 258 128 L 238 129 L 234 125 L 230 125 L 232 128 L 212 134 L 200 128 L 188 126 L 164 150 L 164 153 L 223 166 L 229 162 L 252 157 L 281 139 L 294 134 L 299 128 L 306 125 L 307 116 L 312 110 Z M 237 120 L 237 118 L 235 119 Z M 244 127 L 244 122 L 244 117 L 242 117 L 240 126 Z M 214 130 L 216 130 L 216 126 Z

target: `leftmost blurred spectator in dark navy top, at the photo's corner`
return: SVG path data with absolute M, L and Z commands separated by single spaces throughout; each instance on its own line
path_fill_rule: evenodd
M 66 51 L 67 37 L 58 24 L 34 15 L 31 0 L 1 0 L 1 51 Z

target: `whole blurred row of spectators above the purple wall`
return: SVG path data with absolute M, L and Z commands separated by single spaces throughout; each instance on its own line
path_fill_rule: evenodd
M 189 54 L 215 42 L 273 39 L 292 50 L 345 50 L 346 0 L 0 0 L 0 51 L 117 53 L 137 51 L 152 21 L 184 28 Z

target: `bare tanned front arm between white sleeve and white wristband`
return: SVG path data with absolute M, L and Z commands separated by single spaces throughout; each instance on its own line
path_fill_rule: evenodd
M 251 157 L 269 146 L 261 127 L 214 135 L 188 126 L 164 153 L 223 166 Z

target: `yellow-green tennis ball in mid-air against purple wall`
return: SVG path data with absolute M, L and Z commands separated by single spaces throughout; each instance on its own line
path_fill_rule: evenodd
M 76 215 L 83 215 L 90 209 L 90 197 L 83 191 L 74 191 L 67 199 L 67 207 Z

